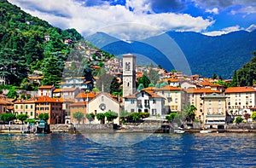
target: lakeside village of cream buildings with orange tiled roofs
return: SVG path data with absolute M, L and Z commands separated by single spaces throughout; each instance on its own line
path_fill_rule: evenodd
M 38 92 L 28 99 L 20 97 L 9 99 L 2 95 L 0 114 L 26 114 L 28 119 L 36 119 L 41 113 L 48 113 L 49 125 L 102 124 L 98 119 L 86 119 L 86 114 L 106 113 L 118 114 L 113 124 L 125 125 L 122 113 L 148 113 L 143 119 L 147 122 L 166 122 L 170 113 L 184 111 L 186 105 L 193 106 L 194 123 L 198 122 L 203 129 L 225 129 L 237 117 L 244 122 L 252 122 L 251 116 L 256 111 L 256 86 L 229 87 L 216 84 L 217 79 L 204 78 L 200 75 L 187 76 L 183 72 L 166 72 L 153 67 L 160 81 L 165 84 L 159 87 L 149 85 L 137 90 L 137 78 L 149 67 L 137 67 L 136 56 L 127 54 L 123 59 L 112 58 L 104 67 L 108 73 L 122 80 L 123 96 L 113 96 L 102 90 L 89 90 L 90 81 L 85 77 L 67 77 L 57 86 L 40 85 Z M 43 77 L 29 77 L 38 82 Z M 230 80 L 225 81 L 227 83 Z M 83 113 L 83 118 L 76 119 L 74 113 Z M 103 119 L 104 120 L 104 119 Z M 21 124 L 15 119 L 14 123 Z M 105 123 L 105 122 L 104 122 Z M 106 122 L 107 123 L 107 122 Z M 193 123 L 191 120 L 190 123 Z M 189 125 L 189 122 L 187 123 Z

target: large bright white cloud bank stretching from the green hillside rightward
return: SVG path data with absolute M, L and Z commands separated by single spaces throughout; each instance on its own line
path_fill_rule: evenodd
M 194 31 L 201 32 L 211 26 L 214 20 L 193 17 L 189 14 L 162 13 L 151 11 L 148 0 L 127 0 L 125 6 L 110 6 L 104 3 L 101 6 L 84 6 L 74 0 L 9 0 L 27 13 L 47 20 L 53 26 L 61 28 L 76 28 L 84 36 L 93 32 L 102 32 L 108 27 L 122 24 L 137 24 L 137 30 L 126 27 L 125 32 L 115 29 L 115 34 L 122 34 L 123 39 L 143 38 L 143 26 L 151 26 L 159 31 Z M 129 10 L 133 9 L 132 11 Z M 216 11 L 215 11 L 216 12 Z M 148 14 L 149 13 L 149 14 Z M 107 27 L 107 28 L 106 28 Z M 130 32 L 130 33 L 127 33 Z M 132 32 L 132 33 L 131 33 Z

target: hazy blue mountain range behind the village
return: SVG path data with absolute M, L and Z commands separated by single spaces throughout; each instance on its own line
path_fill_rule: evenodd
M 103 43 L 94 43 L 99 42 L 98 38 Z M 137 58 L 144 64 L 148 64 L 148 61 L 144 61 L 147 57 L 168 71 L 177 69 L 205 77 L 212 77 L 216 73 L 222 78 L 231 78 L 234 70 L 249 61 L 251 53 L 256 50 L 256 31 L 230 32 L 216 37 L 197 32 L 166 32 L 131 43 L 101 32 L 86 39 L 113 55 L 143 55 L 143 58 Z M 112 39 L 111 43 L 108 43 L 108 39 Z

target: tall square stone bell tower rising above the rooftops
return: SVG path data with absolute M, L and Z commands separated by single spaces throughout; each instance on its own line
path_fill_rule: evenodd
M 136 91 L 135 66 L 135 55 L 123 55 L 123 97 L 130 96 Z

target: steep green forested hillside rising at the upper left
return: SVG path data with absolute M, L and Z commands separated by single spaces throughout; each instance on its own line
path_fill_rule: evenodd
M 64 40 L 79 41 L 79 32 L 50 26 L 6 0 L 0 0 L 0 22 L 0 76 L 18 85 L 28 73 L 39 70 L 44 84 L 56 84 L 73 48 Z

